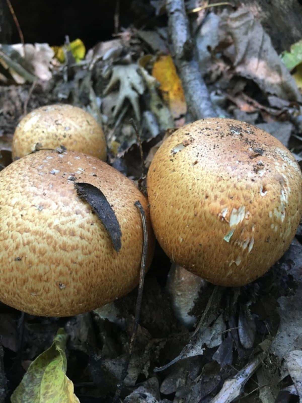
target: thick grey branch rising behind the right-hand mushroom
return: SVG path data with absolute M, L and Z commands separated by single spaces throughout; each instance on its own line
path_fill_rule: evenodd
M 167 0 L 166 8 L 174 60 L 190 111 L 196 119 L 217 116 L 194 54 L 194 43 L 190 36 L 184 0 Z

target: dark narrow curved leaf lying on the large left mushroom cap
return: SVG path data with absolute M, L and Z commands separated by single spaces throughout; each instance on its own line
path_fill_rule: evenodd
M 77 189 L 79 197 L 86 200 L 96 212 L 105 229 L 108 231 L 114 250 L 118 252 L 122 247 L 122 232 L 116 215 L 105 195 L 100 189 L 90 183 L 76 182 L 74 186 Z

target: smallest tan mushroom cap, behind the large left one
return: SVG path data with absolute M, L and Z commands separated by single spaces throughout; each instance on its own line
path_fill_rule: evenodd
M 12 139 L 12 159 L 30 154 L 36 145 L 79 151 L 105 161 L 106 140 L 95 118 L 77 106 L 42 106 L 27 114 L 18 124 Z

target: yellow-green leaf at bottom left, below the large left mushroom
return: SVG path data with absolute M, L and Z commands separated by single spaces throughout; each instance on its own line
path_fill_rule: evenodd
M 67 334 L 59 329 L 49 349 L 31 363 L 12 394 L 11 403 L 80 403 L 66 376 Z

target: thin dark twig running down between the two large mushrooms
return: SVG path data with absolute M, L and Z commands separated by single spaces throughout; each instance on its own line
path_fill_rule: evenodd
M 125 362 L 125 366 L 122 372 L 122 377 L 120 380 L 120 383 L 118 384 L 118 387 L 116 389 L 116 393 L 114 395 L 113 403 L 117 403 L 118 400 L 120 399 L 120 393 L 122 391 L 122 387 L 124 386 L 124 380 L 127 376 L 128 372 L 128 367 L 130 363 L 130 358 L 132 355 L 132 351 L 135 345 L 136 337 L 137 337 L 137 329 L 139 327 L 139 316 L 141 313 L 141 304 L 142 304 L 142 299 L 143 299 L 143 288 L 144 288 L 144 281 L 145 281 L 145 274 L 146 274 L 146 262 L 147 262 L 147 252 L 148 252 L 148 230 L 147 230 L 147 219 L 146 219 L 146 214 L 143 206 L 141 205 L 141 202 L 137 200 L 134 203 L 134 206 L 136 206 L 141 214 L 141 220 L 143 224 L 143 252 L 142 252 L 142 259 L 141 259 L 141 271 L 139 274 L 139 292 L 137 294 L 137 303 L 135 306 L 135 316 L 134 316 L 134 323 L 133 323 L 133 329 L 132 329 L 132 335 L 131 335 L 131 340 L 130 340 L 130 347 L 129 347 L 129 353 L 128 357 Z

